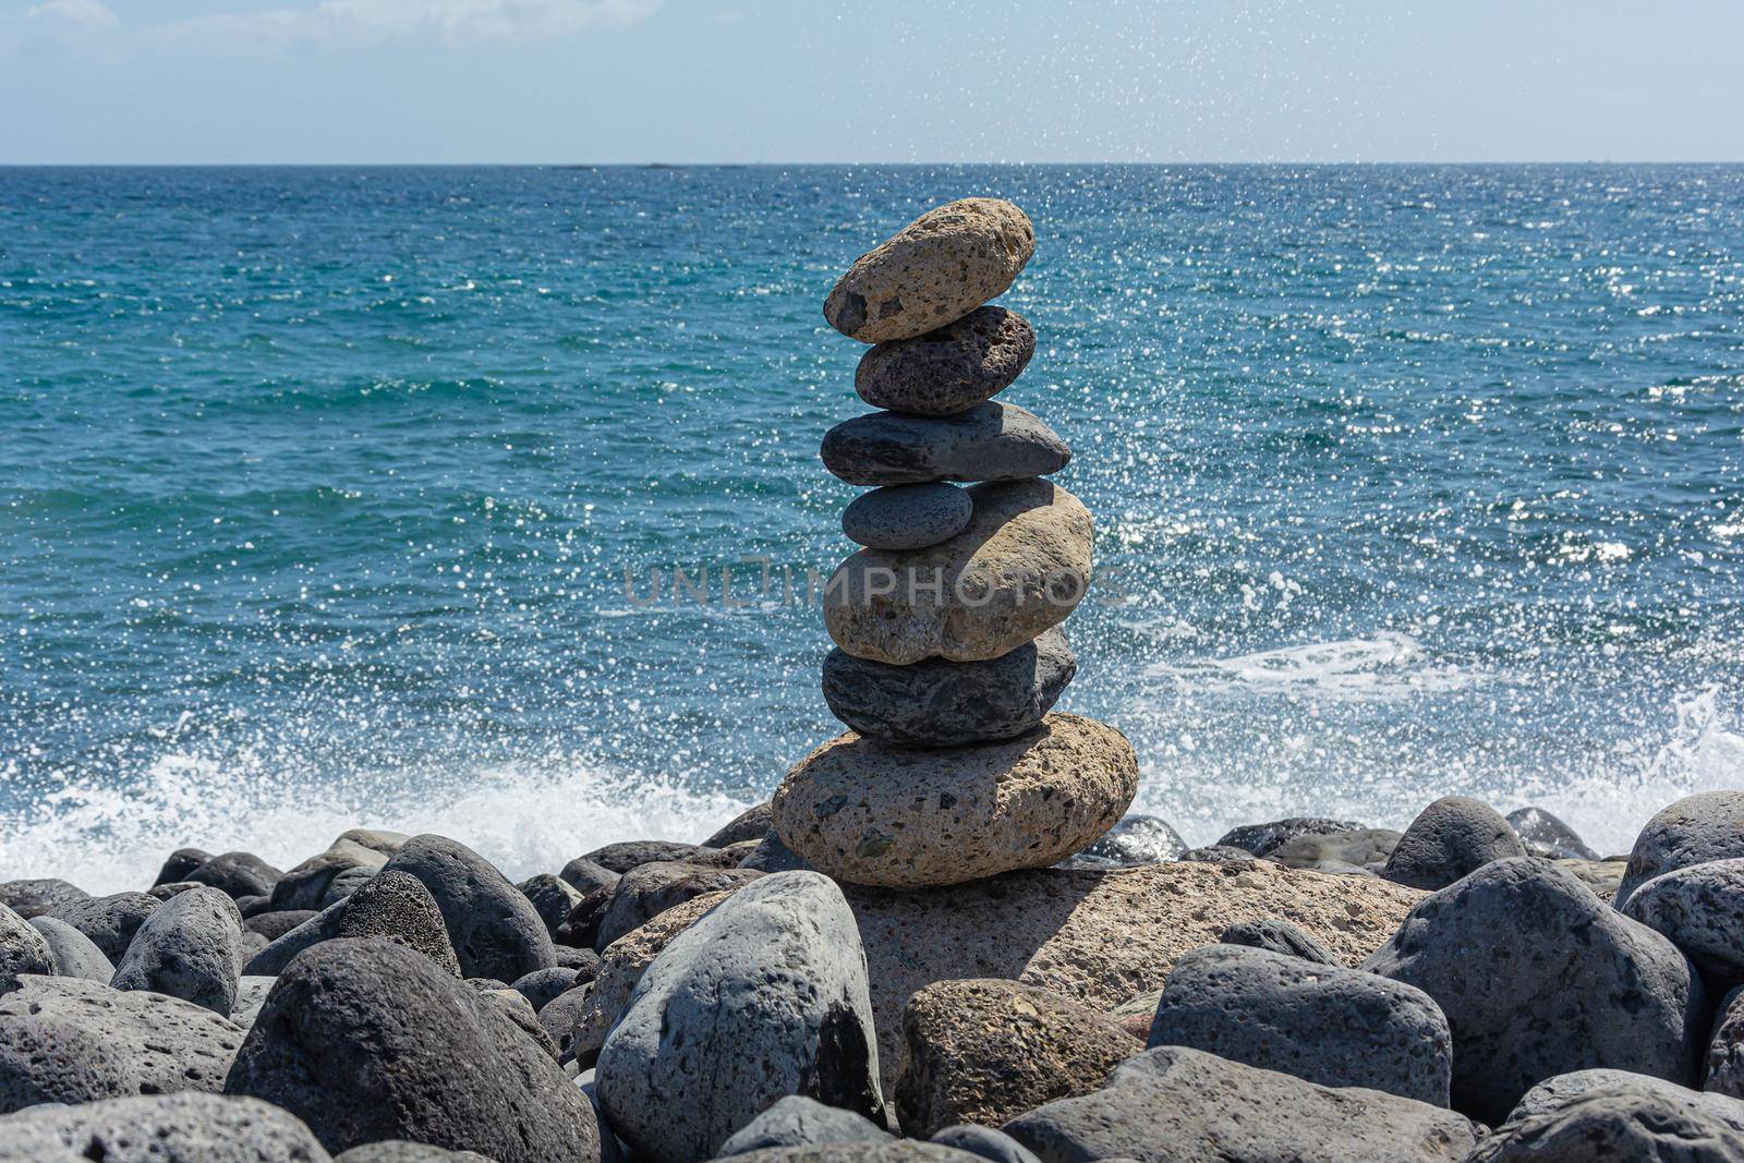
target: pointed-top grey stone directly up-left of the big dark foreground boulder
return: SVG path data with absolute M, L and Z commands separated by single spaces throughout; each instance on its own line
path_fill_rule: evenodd
M 221 891 L 195 886 L 140 926 L 110 985 L 146 989 L 228 1015 L 242 976 L 242 914 Z

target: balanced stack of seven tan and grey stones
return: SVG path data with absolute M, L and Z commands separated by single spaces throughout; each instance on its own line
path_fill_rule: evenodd
M 823 464 L 869 486 L 842 514 L 863 549 L 825 588 L 830 710 L 851 727 L 774 797 L 781 840 L 855 884 L 916 889 L 1071 856 L 1137 792 L 1127 739 L 1050 713 L 1078 668 L 1060 622 L 1090 582 L 1090 513 L 1046 479 L 1053 429 L 996 401 L 1036 333 L 989 307 L 1029 262 L 1017 206 L 940 206 L 863 255 L 830 324 L 874 347 L 870 415 L 823 438 Z M 970 485 L 963 488 L 959 485 Z

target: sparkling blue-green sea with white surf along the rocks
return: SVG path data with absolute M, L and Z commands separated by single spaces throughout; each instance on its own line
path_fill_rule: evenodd
M 764 797 L 837 731 L 823 295 L 968 194 L 1139 809 L 1744 786 L 1744 167 L 0 169 L 0 879 Z

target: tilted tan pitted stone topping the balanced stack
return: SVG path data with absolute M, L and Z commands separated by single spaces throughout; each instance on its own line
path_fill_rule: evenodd
M 1036 253 L 1036 228 L 1005 199 L 930 209 L 862 255 L 823 302 L 830 326 L 862 343 L 905 340 L 1005 295 Z

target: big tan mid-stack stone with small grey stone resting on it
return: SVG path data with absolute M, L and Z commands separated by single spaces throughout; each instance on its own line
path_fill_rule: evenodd
M 1053 481 L 968 490 L 968 527 L 950 541 L 862 549 L 830 575 L 823 624 L 848 654 L 907 666 L 984 663 L 1066 621 L 1090 586 L 1090 513 Z M 1090 837 L 1095 839 L 1095 837 Z

